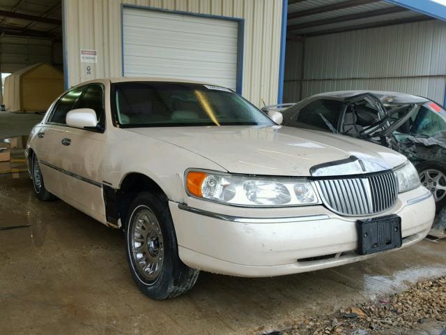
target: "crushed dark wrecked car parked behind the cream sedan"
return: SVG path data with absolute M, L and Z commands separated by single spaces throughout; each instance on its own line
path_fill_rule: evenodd
M 335 91 L 262 110 L 281 112 L 284 126 L 348 135 L 399 151 L 416 166 L 437 211 L 445 207 L 446 111 L 438 103 L 397 92 Z

